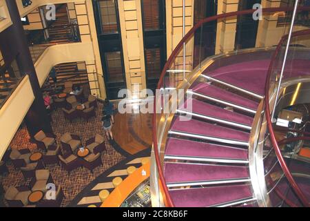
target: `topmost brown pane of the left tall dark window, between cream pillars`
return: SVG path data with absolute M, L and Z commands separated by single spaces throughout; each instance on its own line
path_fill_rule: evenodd
M 114 0 L 99 1 L 101 26 L 103 33 L 117 33 L 116 5 Z

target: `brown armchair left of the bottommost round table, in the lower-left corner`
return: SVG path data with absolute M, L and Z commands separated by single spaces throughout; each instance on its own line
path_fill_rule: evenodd
M 10 207 L 22 207 L 28 205 L 28 197 L 31 191 L 28 186 L 10 186 L 6 190 L 4 198 Z

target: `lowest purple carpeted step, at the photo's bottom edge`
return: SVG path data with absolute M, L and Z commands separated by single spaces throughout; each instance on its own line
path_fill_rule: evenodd
M 252 198 L 249 185 L 215 186 L 197 189 L 177 189 L 169 191 L 177 207 L 205 207 L 235 200 Z

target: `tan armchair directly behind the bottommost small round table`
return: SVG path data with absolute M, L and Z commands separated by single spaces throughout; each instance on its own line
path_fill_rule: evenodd
M 46 184 L 54 183 L 50 171 L 48 169 L 41 169 L 35 171 L 34 177 L 30 181 L 30 187 L 32 191 L 42 191 L 46 193 Z

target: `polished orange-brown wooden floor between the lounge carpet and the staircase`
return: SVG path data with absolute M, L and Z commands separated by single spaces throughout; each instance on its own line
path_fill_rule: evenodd
M 112 133 L 115 142 L 127 153 L 135 154 L 152 147 L 152 114 L 117 113 Z

